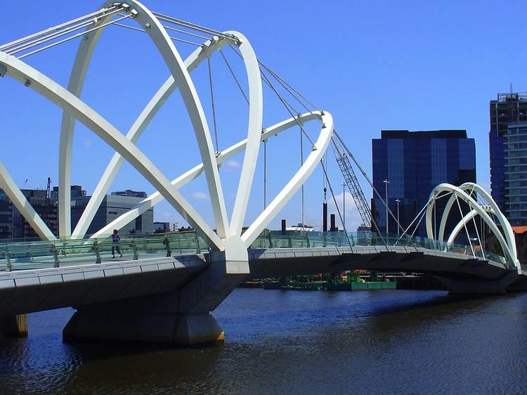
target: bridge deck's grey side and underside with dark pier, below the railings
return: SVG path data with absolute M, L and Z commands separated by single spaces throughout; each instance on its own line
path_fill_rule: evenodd
M 410 247 L 249 250 L 248 267 L 209 259 L 183 254 L 1 273 L 0 317 L 72 306 L 65 338 L 188 345 L 222 339 L 209 312 L 243 280 L 367 269 L 429 273 L 451 292 L 502 293 L 527 283 L 500 263 Z

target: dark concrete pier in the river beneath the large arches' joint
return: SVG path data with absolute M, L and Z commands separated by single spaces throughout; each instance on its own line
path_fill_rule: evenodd
M 63 339 L 156 342 L 181 347 L 223 342 L 223 330 L 210 312 L 247 278 L 249 259 L 245 251 L 245 255 L 211 252 L 209 260 L 207 268 L 177 290 L 77 306 L 63 330 Z

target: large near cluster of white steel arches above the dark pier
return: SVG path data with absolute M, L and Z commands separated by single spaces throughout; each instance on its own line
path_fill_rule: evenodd
M 124 3 L 122 3 L 123 5 Z M 117 4 L 118 5 L 118 4 Z M 136 119 L 134 125 L 124 136 L 120 131 L 110 124 L 105 118 L 100 116 L 89 105 L 84 103 L 80 98 L 84 79 L 89 67 L 91 56 L 96 47 L 100 34 L 103 31 L 105 23 L 111 18 L 105 15 L 98 20 L 98 25 L 103 25 L 100 29 L 88 30 L 79 45 L 77 57 L 74 61 L 72 74 L 68 89 L 49 79 L 45 75 L 35 70 L 33 67 L 22 62 L 22 60 L 0 51 L 0 77 L 7 75 L 22 82 L 25 86 L 44 96 L 49 101 L 58 105 L 64 111 L 63 122 L 60 132 L 59 148 L 59 234 L 60 236 L 69 236 L 70 229 L 70 174 L 72 159 L 72 142 L 74 136 L 74 124 L 76 121 L 82 122 L 88 129 L 97 134 L 105 143 L 108 143 L 115 151 L 114 157 L 108 164 L 103 177 L 101 178 L 96 191 L 82 215 L 81 221 L 77 225 L 72 235 L 74 237 L 84 237 L 93 215 L 95 214 L 100 201 L 108 191 L 110 184 L 117 175 L 117 171 L 123 160 L 128 161 L 134 166 L 157 192 L 152 194 L 148 199 L 141 202 L 138 207 L 131 209 L 130 212 L 119 217 L 115 222 L 101 229 L 96 235 L 108 234 L 109 227 L 119 227 L 128 223 L 136 216 L 144 212 L 145 209 L 152 207 L 160 202 L 163 198 L 183 216 L 188 223 L 193 226 L 204 238 L 213 250 L 226 250 L 228 245 L 233 248 L 227 250 L 245 250 L 254 241 L 259 233 L 272 221 L 279 210 L 289 201 L 294 193 L 304 184 L 306 179 L 312 174 L 318 162 L 322 159 L 333 133 L 333 120 L 328 112 L 313 111 L 308 114 L 298 115 L 297 117 L 287 119 L 283 122 L 273 125 L 273 127 L 262 129 L 263 115 L 263 98 L 261 88 L 261 75 L 258 60 L 249 41 L 239 32 L 218 33 L 209 41 L 206 41 L 201 48 L 194 51 L 185 62 L 179 56 L 174 44 L 167 34 L 160 21 L 145 6 L 136 0 L 126 1 L 126 8 L 122 12 L 133 15 L 141 27 L 149 34 L 152 41 L 160 51 L 165 63 L 171 71 L 171 76 L 152 97 L 141 115 Z M 116 6 L 112 1 L 106 2 L 105 6 Z M 202 60 L 210 56 L 214 51 L 219 50 L 224 45 L 235 44 L 241 53 L 242 60 L 247 71 L 249 84 L 249 122 L 247 127 L 247 138 L 239 143 L 227 148 L 222 153 L 214 153 L 212 136 L 207 125 L 204 110 L 197 96 L 197 92 L 190 79 L 190 72 L 199 65 Z M 139 150 L 135 142 L 141 136 L 148 123 L 161 108 L 171 93 L 179 89 L 183 102 L 193 124 L 195 136 L 200 148 L 202 164 L 190 169 L 174 181 L 170 182 L 162 172 Z M 247 231 L 242 235 L 242 226 L 244 225 L 245 215 L 249 194 L 254 179 L 254 171 L 259 155 L 259 145 L 261 141 L 266 141 L 268 137 L 275 136 L 281 131 L 285 131 L 299 124 L 299 122 L 308 122 L 317 119 L 322 124 L 322 129 L 318 140 L 313 145 L 313 150 L 308 155 L 304 164 L 297 171 L 291 181 L 275 197 L 273 202 L 265 209 L 254 224 L 249 226 Z M 219 164 L 236 153 L 245 150 L 244 162 L 240 182 L 238 184 L 238 193 L 235 199 L 233 215 L 229 221 L 221 181 L 219 179 Z M 178 188 L 192 181 L 201 173 L 205 174 L 209 194 L 211 196 L 214 218 L 216 220 L 216 231 L 200 216 L 181 193 Z M 18 187 L 11 179 L 7 169 L 0 163 L 0 186 L 6 190 L 6 193 L 13 200 L 16 207 L 22 212 L 25 218 L 35 228 L 42 238 L 52 239 L 55 236 L 48 229 L 46 224 L 41 221 L 38 214 L 34 212 L 29 202 L 20 193 Z M 242 252 L 243 253 L 243 252 Z M 238 254 L 238 252 L 234 252 Z

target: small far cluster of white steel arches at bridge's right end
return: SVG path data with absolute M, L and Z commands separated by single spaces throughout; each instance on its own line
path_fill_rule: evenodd
M 468 214 L 462 216 L 462 219 L 460 219 L 458 224 L 456 224 L 456 226 L 453 228 L 453 231 L 450 233 L 446 241 L 453 242 L 462 228 L 467 226 L 469 221 L 474 219 L 474 216 L 479 215 L 489 227 L 490 231 L 492 231 L 492 233 L 496 236 L 498 242 L 500 242 L 500 246 L 502 247 L 502 250 L 505 253 L 505 258 L 509 264 L 511 266 L 516 266 L 516 268 L 520 270 L 520 264 L 516 254 L 516 240 L 514 239 L 514 232 L 512 231 L 509 221 L 507 221 L 505 215 L 500 212 L 500 209 L 497 207 L 497 204 L 493 198 L 486 192 L 486 190 L 481 188 L 481 186 L 477 185 L 476 183 L 463 183 L 459 187 L 453 186 L 449 183 L 441 183 L 436 186 L 434 190 L 432 190 L 430 193 L 429 205 L 427 207 L 427 237 L 429 239 L 433 240 L 435 236 L 432 229 L 434 205 L 436 204 L 436 198 L 441 193 L 450 193 L 451 195 L 445 205 L 443 213 L 441 214 L 441 225 L 437 236 L 437 240 L 439 242 L 445 241 L 445 226 L 448 215 L 450 214 L 450 210 L 452 209 L 453 205 L 458 201 L 458 199 L 461 199 L 469 205 L 470 211 Z M 480 200 L 482 200 L 484 203 L 483 205 L 474 199 L 472 196 L 474 193 L 479 195 Z M 489 213 L 493 214 L 493 216 L 497 219 L 497 224 L 489 215 Z M 498 224 L 502 229 L 501 231 L 497 226 Z

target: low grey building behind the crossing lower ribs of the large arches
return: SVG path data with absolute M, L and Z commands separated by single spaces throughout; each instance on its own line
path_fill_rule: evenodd
M 72 228 L 77 225 L 79 219 L 88 204 L 91 196 L 79 196 L 72 198 Z M 96 233 L 100 228 L 110 224 L 118 216 L 128 212 L 129 209 L 136 207 L 143 197 L 131 197 L 127 195 L 105 195 L 103 202 L 93 217 L 93 221 L 88 228 L 87 234 Z M 129 233 L 152 233 L 154 228 L 154 209 L 148 209 L 126 226 L 119 229 L 121 235 Z

